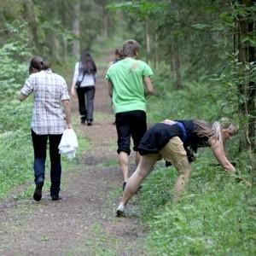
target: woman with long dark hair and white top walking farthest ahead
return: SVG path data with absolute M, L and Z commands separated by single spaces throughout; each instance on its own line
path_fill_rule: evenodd
M 76 63 L 71 94 L 77 90 L 81 124 L 91 125 L 93 121 L 94 97 L 96 84 L 96 64 L 88 51 L 83 51 L 80 61 Z M 85 103 L 86 98 L 86 103 Z

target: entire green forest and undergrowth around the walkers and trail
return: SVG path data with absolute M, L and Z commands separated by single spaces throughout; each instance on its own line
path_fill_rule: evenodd
M 169 200 L 175 174 L 159 168 L 148 178 L 141 203 L 148 246 L 159 255 L 255 254 L 255 17 L 253 0 L 2 0 L 0 198 L 31 178 L 32 101 L 20 105 L 17 95 L 32 55 L 73 70 L 82 49 L 100 55 L 133 38 L 155 74 L 149 122 L 224 116 L 240 128 L 227 147 L 235 177 L 201 151 L 175 208 Z

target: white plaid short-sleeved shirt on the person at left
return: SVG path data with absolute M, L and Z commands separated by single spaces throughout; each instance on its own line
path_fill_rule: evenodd
M 34 93 L 32 130 L 37 134 L 61 134 L 65 129 L 61 101 L 69 100 L 67 83 L 51 69 L 32 73 L 20 91 Z

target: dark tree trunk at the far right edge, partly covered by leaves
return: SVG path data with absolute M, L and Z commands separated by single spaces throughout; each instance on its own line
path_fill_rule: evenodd
M 239 1 L 242 5 L 250 7 L 255 1 L 241 0 Z M 237 28 L 238 28 L 238 38 L 237 38 L 237 49 L 239 50 L 238 61 L 242 63 L 240 75 L 243 83 L 238 84 L 238 89 L 245 99 L 239 104 L 239 111 L 241 113 L 242 119 L 245 120 L 245 137 L 246 140 L 241 139 L 241 147 L 246 149 L 248 152 L 249 159 L 252 165 L 252 182 L 256 185 L 256 170 L 255 170 L 255 160 L 254 155 L 256 152 L 256 84 L 253 79 L 253 70 L 250 66 L 253 61 L 255 61 L 255 47 L 250 45 L 244 40 L 246 37 L 250 37 L 255 32 L 256 22 L 253 20 L 252 16 L 238 16 Z M 240 97 L 241 97 L 240 96 Z

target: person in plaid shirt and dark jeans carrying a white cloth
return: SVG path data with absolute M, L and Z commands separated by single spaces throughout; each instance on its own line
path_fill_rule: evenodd
M 39 56 L 32 58 L 29 66 L 30 76 L 20 90 L 20 102 L 34 94 L 32 113 L 32 144 L 34 149 L 34 175 L 36 189 L 35 201 L 42 198 L 47 141 L 49 139 L 50 158 L 50 196 L 53 201 L 60 200 L 61 154 L 59 144 L 65 130 L 65 119 L 61 103 L 66 114 L 66 128 L 72 129 L 69 95 L 66 81 L 53 73 L 49 65 Z

